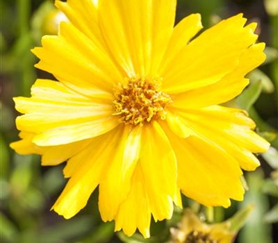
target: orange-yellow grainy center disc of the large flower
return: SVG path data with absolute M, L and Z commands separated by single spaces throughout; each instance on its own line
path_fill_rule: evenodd
M 133 126 L 143 126 L 152 119 L 165 119 L 167 104 L 172 103 L 169 94 L 160 91 L 161 83 L 147 78 L 130 78 L 126 85 L 115 88 L 113 115 Z

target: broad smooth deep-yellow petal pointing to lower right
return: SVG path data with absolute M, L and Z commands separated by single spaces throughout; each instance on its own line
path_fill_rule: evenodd
M 205 206 L 230 206 L 243 200 L 242 174 L 236 160 L 200 137 L 167 134 L 177 155 L 178 185 L 186 196 Z

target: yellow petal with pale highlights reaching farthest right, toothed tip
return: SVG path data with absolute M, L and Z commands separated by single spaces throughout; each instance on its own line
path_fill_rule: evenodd
M 268 142 L 252 131 L 254 122 L 243 110 L 211 106 L 186 110 L 179 115 L 180 119 L 185 119 L 196 134 L 219 144 L 238 161 L 243 169 L 256 169 L 259 160 L 252 153 L 268 149 Z

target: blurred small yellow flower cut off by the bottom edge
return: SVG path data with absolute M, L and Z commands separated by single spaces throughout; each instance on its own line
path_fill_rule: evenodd
M 179 227 L 171 228 L 168 243 L 233 243 L 253 209 L 253 206 L 247 206 L 226 221 L 206 224 L 190 208 L 186 208 Z

